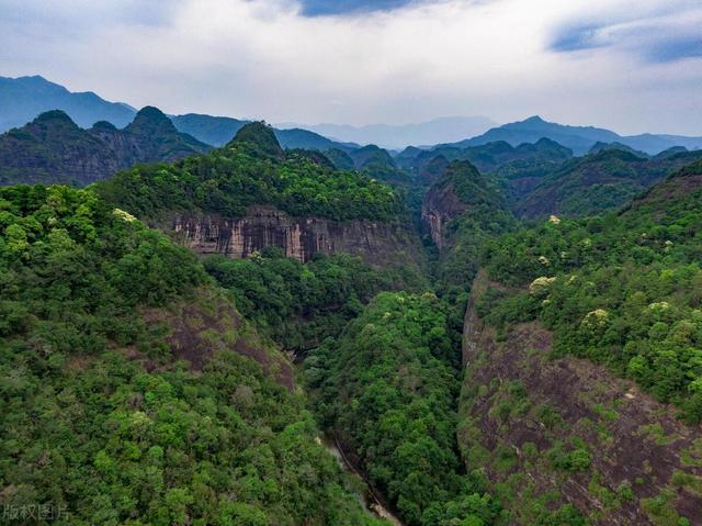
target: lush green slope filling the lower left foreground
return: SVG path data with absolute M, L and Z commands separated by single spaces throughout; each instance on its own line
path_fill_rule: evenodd
M 376 524 L 303 400 L 238 354 L 260 339 L 238 345 L 241 320 L 218 339 L 202 321 L 222 323 L 224 300 L 196 313 L 197 291 L 222 296 L 195 256 L 92 192 L 0 189 L 5 510 L 46 505 L 61 525 Z M 202 371 L 176 363 L 172 328 L 154 323 L 178 303 L 215 347 Z

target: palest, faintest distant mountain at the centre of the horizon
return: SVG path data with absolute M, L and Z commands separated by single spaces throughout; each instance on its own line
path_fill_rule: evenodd
M 448 116 L 415 124 L 280 124 L 279 127 L 304 127 L 336 141 L 377 144 L 399 149 L 408 145 L 440 144 L 485 132 L 495 123 L 483 116 Z

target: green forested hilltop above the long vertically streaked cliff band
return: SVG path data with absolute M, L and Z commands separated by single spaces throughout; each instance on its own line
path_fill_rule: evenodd
M 238 217 L 252 204 L 331 220 L 385 221 L 405 213 L 397 189 L 359 172 L 337 171 L 316 156 L 285 153 L 272 128 L 258 122 L 241 127 L 223 148 L 171 165 L 137 166 L 98 189 L 143 217 L 173 210 Z

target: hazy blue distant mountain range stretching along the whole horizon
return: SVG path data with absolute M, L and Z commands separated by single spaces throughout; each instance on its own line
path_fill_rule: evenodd
M 90 91 L 70 92 L 39 76 L 0 77 L 0 132 L 23 125 L 39 113 L 50 110 L 65 111 L 79 126 L 86 128 L 98 121 L 123 127 L 136 114 L 136 110 L 128 104 L 106 101 Z M 225 145 L 248 122 L 196 113 L 170 117 L 179 132 L 188 133 L 212 146 Z M 446 146 L 465 148 L 497 141 L 519 146 L 522 143 L 536 143 L 541 138 L 555 141 L 570 148 L 575 155 L 589 153 L 597 143 L 619 143 L 647 155 L 656 155 L 676 146 L 702 148 L 702 136 L 650 133 L 620 135 L 600 127 L 546 122 L 536 115 L 488 130 L 490 125 L 494 123 L 483 116 L 454 116 L 416 124 L 373 124 L 358 127 L 343 124 L 284 123 L 278 125 L 274 132 L 284 148 L 339 148 L 347 152 L 367 144 L 389 149 L 401 149 L 408 145 L 419 146 L 417 149 L 434 149 Z

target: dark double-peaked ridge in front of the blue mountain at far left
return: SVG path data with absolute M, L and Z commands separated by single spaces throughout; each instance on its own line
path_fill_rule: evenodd
M 83 130 L 53 110 L 0 135 L 0 184 L 84 186 L 137 163 L 172 161 L 208 149 L 179 133 L 156 108 L 140 110 L 124 130 L 104 121 Z

